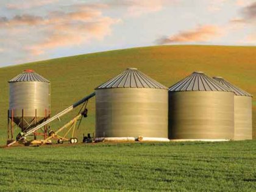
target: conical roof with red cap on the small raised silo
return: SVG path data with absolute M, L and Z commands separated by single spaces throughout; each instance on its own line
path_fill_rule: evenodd
M 35 71 L 32 69 L 26 69 L 23 71 L 23 73 L 9 80 L 9 83 L 12 83 L 12 82 L 48 82 L 49 83 L 49 80 L 40 76 L 40 74 L 35 73 Z

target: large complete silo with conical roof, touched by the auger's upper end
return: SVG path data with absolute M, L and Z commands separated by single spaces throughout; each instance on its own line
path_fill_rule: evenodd
M 140 136 L 168 141 L 168 89 L 127 68 L 96 88 L 96 138 Z

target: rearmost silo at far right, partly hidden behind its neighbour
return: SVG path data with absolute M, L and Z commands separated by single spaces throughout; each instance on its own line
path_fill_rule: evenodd
M 213 77 L 235 93 L 234 96 L 234 140 L 252 140 L 252 95 L 230 84 L 222 77 Z

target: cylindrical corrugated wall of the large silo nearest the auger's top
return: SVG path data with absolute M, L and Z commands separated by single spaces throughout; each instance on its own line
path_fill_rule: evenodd
M 96 137 L 168 137 L 168 90 L 96 90 Z

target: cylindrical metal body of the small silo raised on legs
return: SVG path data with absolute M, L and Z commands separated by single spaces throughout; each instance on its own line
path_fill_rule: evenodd
M 48 82 L 12 82 L 10 85 L 9 95 L 9 116 L 13 116 L 15 123 L 19 124 L 24 110 L 24 119 L 30 123 L 35 117 L 37 109 L 37 121 L 44 116 L 49 115 L 50 110 L 50 92 Z M 46 114 L 45 114 L 46 110 Z M 24 124 L 26 128 L 28 124 Z

